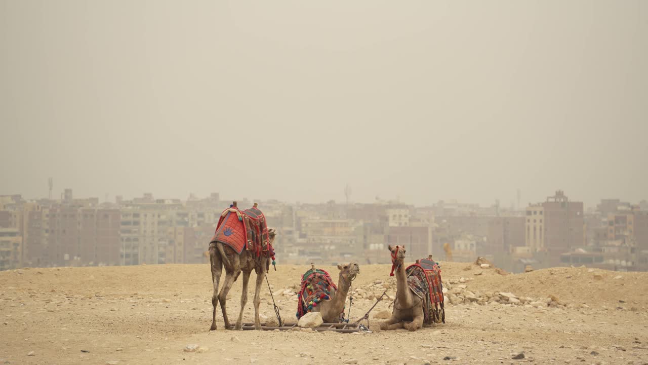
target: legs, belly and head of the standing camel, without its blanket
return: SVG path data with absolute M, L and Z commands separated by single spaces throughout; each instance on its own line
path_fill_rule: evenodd
M 276 232 L 274 229 L 268 229 L 268 238 L 270 240 L 270 245 L 275 240 Z M 241 308 L 240 313 L 238 314 L 237 324 L 234 327 L 236 330 L 241 330 L 242 321 L 243 321 L 243 310 L 245 309 L 246 303 L 248 303 L 248 281 L 249 275 L 252 270 L 255 270 L 257 273 L 257 283 L 255 286 L 254 292 L 254 327 L 257 330 L 261 329 L 261 323 L 259 320 L 259 304 L 261 303 L 261 285 L 263 284 L 263 278 L 270 268 L 270 262 L 272 258 L 270 255 L 260 255 L 257 256 L 253 251 L 248 251 L 244 249 L 240 255 L 234 251 L 229 245 L 223 244 L 222 242 L 213 242 L 209 245 L 209 261 L 211 262 L 211 278 L 214 284 L 214 293 L 211 297 L 211 304 L 214 307 L 212 314 L 211 328 L 209 331 L 216 330 L 216 303 L 220 302 L 220 308 L 223 312 L 223 320 L 225 321 L 225 328 L 231 329 L 229 325 L 229 320 L 227 319 L 227 310 L 226 310 L 226 300 L 227 293 L 231 289 L 232 284 L 237 280 L 238 275 L 241 271 L 243 272 L 243 291 L 241 294 Z M 225 282 L 223 287 L 218 292 L 218 283 L 220 281 L 220 275 L 222 273 L 223 266 L 225 267 Z M 218 294 L 218 297 L 216 297 Z

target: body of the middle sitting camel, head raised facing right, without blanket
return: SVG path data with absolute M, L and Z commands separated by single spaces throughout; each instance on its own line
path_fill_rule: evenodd
M 351 281 L 353 281 L 356 278 L 356 275 L 360 273 L 360 266 L 358 265 L 358 262 L 351 261 L 347 264 L 338 265 L 338 270 L 340 270 L 338 290 L 334 290 L 334 292 L 330 294 L 329 299 L 320 301 L 318 305 L 310 309 L 310 312 L 321 313 L 324 323 L 340 322 L 340 316 L 343 316 L 347 294 L 351 287 Z M 301 298 L 297 300 L 300 301 L 297 305 L 301 305 Z

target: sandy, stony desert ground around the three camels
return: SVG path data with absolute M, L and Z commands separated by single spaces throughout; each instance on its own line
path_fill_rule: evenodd
M 336 268 L 323 268 L 337 281 Z M 284 319 L 295 320 L 296 298 L 279 292 L 305 270 L 278 266 L 269 275 Z M 375 318 L 374 333 L 364 334 L 225 331 L 222 318 L 210 333 L 206 264 L 12 270 L 0 272 L 0 364 L 648 364 L 648 273 L 500 275 L 467 263 L 442 263 L 442 270 L 444 281 L 472 279 L 470 290 L 554 296 L 561 305 L 448 303 L 446 324 L 415 333 L 379 331 Z M 388 265 L 361 266 L 354 288 L 389 283 L 388 274 Z M 262 290 L 267 318 L 272 304 L 267 286 Z M 239 297 L 237 282 L 228 302 L 233 321 Z M 356 299 L 352 320 L 372 304 Z M 372 315 L 388 305 L 379 303 Z M 183 351 L 188 345 L 200 351 Z M 513 360 L 518 353 L 524 359 Z

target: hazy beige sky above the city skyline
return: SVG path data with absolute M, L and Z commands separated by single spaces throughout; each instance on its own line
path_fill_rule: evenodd
M 648 1 L 0 0 L 0 194 L 648 198 Z

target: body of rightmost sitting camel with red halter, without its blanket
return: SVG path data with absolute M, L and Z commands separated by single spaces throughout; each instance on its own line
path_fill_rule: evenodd
M 380 323 L 380 329 L 406 328 L 416 331 L 423 327 L 423 301 L 411 292 L 407 284 L 407 276 L 403 261 L 405 259 L 405 246 L 391 247 L 391 273 L 396 271 L 396 299 L 394 309 L 389 320 Z

